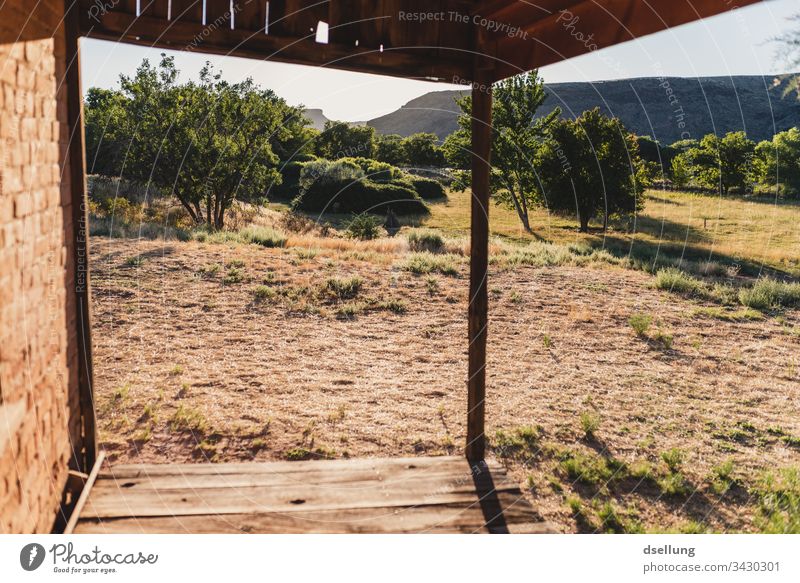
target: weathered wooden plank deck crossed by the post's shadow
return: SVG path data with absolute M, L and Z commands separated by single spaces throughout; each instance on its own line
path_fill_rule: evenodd
M 101 469 L 76 533 L 551 532 L 505 469 L 461 457 Z

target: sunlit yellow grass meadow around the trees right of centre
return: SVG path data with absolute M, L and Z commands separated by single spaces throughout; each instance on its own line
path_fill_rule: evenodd
M 469 229 L 469 192 L 452 192 L 446 203 L 431 206 L 425 226 L 466 234 Z M 492 232 L 519 241 L 590 243 L 619 253 L 658 251 L 662 254 L 738 264 L 747 261 L 751 271 L 761 265 L 800 277 L 800 204 L 769 198 L 721 198 L 702 194 L 650 191 L 644 211 L 635 223 L 614 224 L 602 233 L 577 232 L 574 219 L 531 212 L 534 235 L 521 228 L 513 210 L 492 206 Z

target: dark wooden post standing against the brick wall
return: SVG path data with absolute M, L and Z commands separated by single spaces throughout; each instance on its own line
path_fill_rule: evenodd
M 86 204 L 86 158 L 83 147 L 83 96 L 78 37 L 80 18 L 78 3 L 67 7 L 64 15 L 66 36 L 66 97 L 69 147 L 63 180 L 69 181 L 72 207 L 72 271 L 75 294 L 75 321 L 78 341 L 78 387 L 81 409 L 82 451 L 73 452 L 75 462 L 84 472 L 92 470 L 97 460 L 97 435 L 94 409 L 94 375 L 92 372 L 92 326 L 89 285 L 89 220 Z M 73 387 L 70 387 L 73 389 Z M 73 444 L 75 447 L 78 444 Z M 82 458 L 82 459 L 80 459 Z

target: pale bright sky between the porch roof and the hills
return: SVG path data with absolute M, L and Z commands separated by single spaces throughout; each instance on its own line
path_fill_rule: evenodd
M 576 57 L 540 70 L 546 83 L 600 81 L 627 77 L 773 75 L 786 72 L 771 42 L 798 23 L 798 0 L 769 0 L 719 16 L 662 31 L 642 39 Z M 445 83 L 270 63 L 190 52 L 148 49 L 130 44 L 82 40 L 84 90 L 114 88 L 121 73 L 131 74 L 147 57 L 175 56 L 182 79 L 196 78 L 205 61 L 229 81 L 252 77 L 292 105 L 322 109 L 331 119 L 366 121 L 390 113 L 429 91 L 463 89 Z

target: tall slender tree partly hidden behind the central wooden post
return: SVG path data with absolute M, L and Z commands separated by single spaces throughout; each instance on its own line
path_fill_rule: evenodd
M 541 203 L 540 190 L 534 172 L 533 156 L 545 140 L 549 127 L 561 113 L 559 108 L 543 118 L 536 111 L 547 93 L 538 71 L 524 73 L 500 81 L 493 89 L 492 101 L 492 173 L 489 190 L 497 204 L 513 208 L 522 227 L 531 233 L 529 211 Z M 472 98 L 457 99 L 461 108 L 459 129 L 444 143 L 448 162 L 456 173 L 453 187 L 469 187 L 469 168 L 472 132 Z

